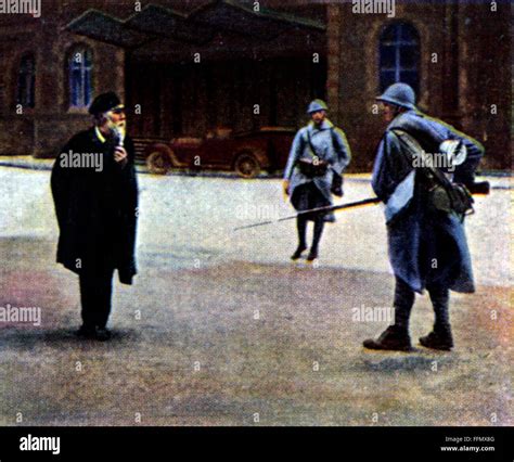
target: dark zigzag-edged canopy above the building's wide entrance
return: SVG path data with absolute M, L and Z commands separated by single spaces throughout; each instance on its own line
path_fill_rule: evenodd
M 183 14 L 149 4 L 126 20 L 88 10 L 66 29 L 131 51 L 132 59 L 206 59 L 325 54 L 325 25 L 278 11 L 214 1 Z

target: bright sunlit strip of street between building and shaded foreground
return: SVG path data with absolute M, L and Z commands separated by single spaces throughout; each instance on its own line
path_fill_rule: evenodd
M 478 284 L 510 285 L 511 177 L 479 177 L 492 185 L 476 196 L 466 230 Z M 0 168 L 0 236 L 56 239 L 47 171 Z M 140 175 L 139 257 L 142 265 L 197 267 L 243 260 L 286 264 L 295 247 L 294 220 L 248 230 L 239 226 L 294 214 L 281 194 L 279 179 L 241 180 L 190 176 Z M 340 203 L 373 196 L 369 176 L 348 176 Z M 382 205 L 337 214 L 326 227 L 319 265 L 388 272 Z

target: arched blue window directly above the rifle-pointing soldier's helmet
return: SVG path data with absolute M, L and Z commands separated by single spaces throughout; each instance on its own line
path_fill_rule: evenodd
M 384 28 L 380 43 L 380 86 L 384 91 L 397 81 L 409 84 L 420 91 L 420 36 L 406 23 L 394 23 Z

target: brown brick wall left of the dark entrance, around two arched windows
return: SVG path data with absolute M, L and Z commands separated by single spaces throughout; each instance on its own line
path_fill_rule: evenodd
M 76 131 L 91 124 L 87 110 L 72 110 L 68 103 L 67 59 L 79 44 L 93 53 L 93 92 L 125 93 L 124 52 L 115 47 L 80 38 L 62 30 L 59 12 L 47 12 L 44 21 L 26 21 L 0 29 L 0 153 L 55 156 Z M 15 22 L 14 22 L 15 23 Z M 35 107 L 17 107 L 16 85 L 20 61 L 31 52 L 36 60 Z M 22 113 L 20 113 L 20 110 Z

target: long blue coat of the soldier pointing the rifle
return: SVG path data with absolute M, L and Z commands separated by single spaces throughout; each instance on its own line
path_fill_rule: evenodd
M 455 167 L 454 182 L 474 181 L 484 147 L 440 120 L 408 111 L 387 127 L 378 145 L 372 178 L 373 190 L 386 204 L 388 251 L 395 274 L 419 293 L 432 283 L 455 292 L 474 292 L 464 224 L 454 214 L 427 209 L 417 178 L 422 174 L 401 153 L 400 142 L 391 131 L 394 128 L 412 134 L 427 153 L 438 152 L 445 140 L 462 140 L 467 158 Z

